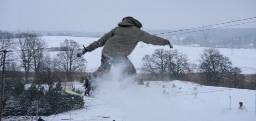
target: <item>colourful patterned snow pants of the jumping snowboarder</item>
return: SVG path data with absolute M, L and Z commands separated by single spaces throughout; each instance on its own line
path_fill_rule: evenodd
M 116 66 L 117 64 L 123 64 L 125 67 L 124 71 L 122 72 L 123 75 L 135 76 L 137 74 L 134 65 L 131 63 L 128 57 L 112 58 L 112 57 L 102 55 L 100 67 L 95 72 L 89 75 L 89 80 L 100 77 L 103 74 L 109 73 L 109 71 L 111 70 L 112 64 L 114 66 Z

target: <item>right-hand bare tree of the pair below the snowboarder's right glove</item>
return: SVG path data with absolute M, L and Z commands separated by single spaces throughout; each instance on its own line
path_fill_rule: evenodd
M 177 50 L 172 51 L 170 54 L 169 71 L 175 77 L 175 79 L 180 79 L 182 75 L 190 73 L 192 71 L 192 64 L 188 63 L 188 58 L 186 54 L 179 53 Z

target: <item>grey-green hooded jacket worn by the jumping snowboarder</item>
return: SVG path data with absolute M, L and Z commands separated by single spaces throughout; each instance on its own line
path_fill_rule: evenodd
M 102 54 L 109 57 L 127 57 L 139 41 L 147 44 L 165 46 L 168 40 L 151 35 L 140 28 L 129 19 L 123 19 L 108 33 L 104 34 L 99 40 L 94 41 L 86 47 L 87 51 L 93 51 L 98 47 L 103 47 Z

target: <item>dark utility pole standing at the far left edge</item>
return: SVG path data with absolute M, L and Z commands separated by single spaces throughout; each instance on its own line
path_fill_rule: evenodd
M 2 110 L 3 110 L 3 104 L 2 104 L 2 101 L 3 101 L 3 85 L 4 85 L 4 64 L 5 64 L 5 57 L 6 57 L 6 53 L 9 52 L 9 51 L 6 51 L 4 50 L 4 60 L 3 60 L 3 72 L 2 72 L 2 80 L 1 80 L 1 100 L 0 100 L 0 121 L 2 119 Z

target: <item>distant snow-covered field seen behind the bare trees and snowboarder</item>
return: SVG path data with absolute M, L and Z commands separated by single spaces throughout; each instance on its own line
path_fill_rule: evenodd
M 47 42 L 49 47 L 59 47 L 61 42 L 64 42 L 65 39 L 72 39 L 77 41 L 79 44 L 88 46 L 93 41 L 98 40 L 99 38 L 89 38 L 89 37 L 68 37 L 68 36 L 44 36 L 43 37 Z M 82 47 L 82 46 L 81 46 Z M 151 44 L 138 43 L 135 50 L 129 56 L 129 59 L 134 64 L 135 68 L 139 70 L 141 67 L 141 59 L 146 54 L 153 54 L 154 50 L 163 48 L 164 50 L 170 50 L 169 46 L 153 46 Z M 189 62 L 196 63 L 200 57 L 200 54 L 203 53 L 204 47 L 187 47 L 187 46 L 177 46 L 174 45 L 173 49 L 177 49 L 179 52 L 186 53 L 189 59 Z M 233 66 L 240 67 L 244 74 L 253 74 L 256 73 L 256 50 L 252 49 L 234 49 L 233 54 L 231 54 L 231 49 L 229 48 L 219 48 L 221 54 L 230 58 L 233 63 Z M 97 48 L 96 50 L 84 54 L 88 62 L 87 70 L 94 71 L 100 65 L 102 47 Z M 58 52 L 50 52 L 51 56 L 54 57 Z

